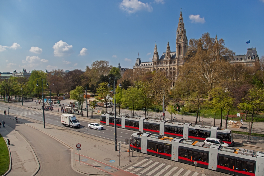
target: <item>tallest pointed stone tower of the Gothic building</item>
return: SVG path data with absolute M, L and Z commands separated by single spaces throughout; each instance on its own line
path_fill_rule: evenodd
M 182 58 L 187 52 L 188 40 L 182 17 L 182 8 L 180 8 L 180 17 L 176 33 L 176 55 L 178 57 L 178 63 L 183 64 Z

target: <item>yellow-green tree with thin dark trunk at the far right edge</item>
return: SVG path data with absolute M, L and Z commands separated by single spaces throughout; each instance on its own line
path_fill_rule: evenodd
M 249 122 L 249 134 L 251 135 L 253 118 L 258 113 L 263 112 L 264 109 L 264 89 L 250 89 L 245 98 L 242 98 L 242 103 L 239 103 L 238 107 L 247 110 L 251 114 L 251 121 Z

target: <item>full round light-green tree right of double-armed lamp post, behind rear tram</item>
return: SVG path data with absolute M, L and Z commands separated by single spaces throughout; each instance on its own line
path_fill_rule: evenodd
M 122 104 L 132 109 L 132 116 L 134 117 L 134 109 L 138 107 L 140 91 L 135 87 L 128 87 L 127 90 L 123 90 Z

